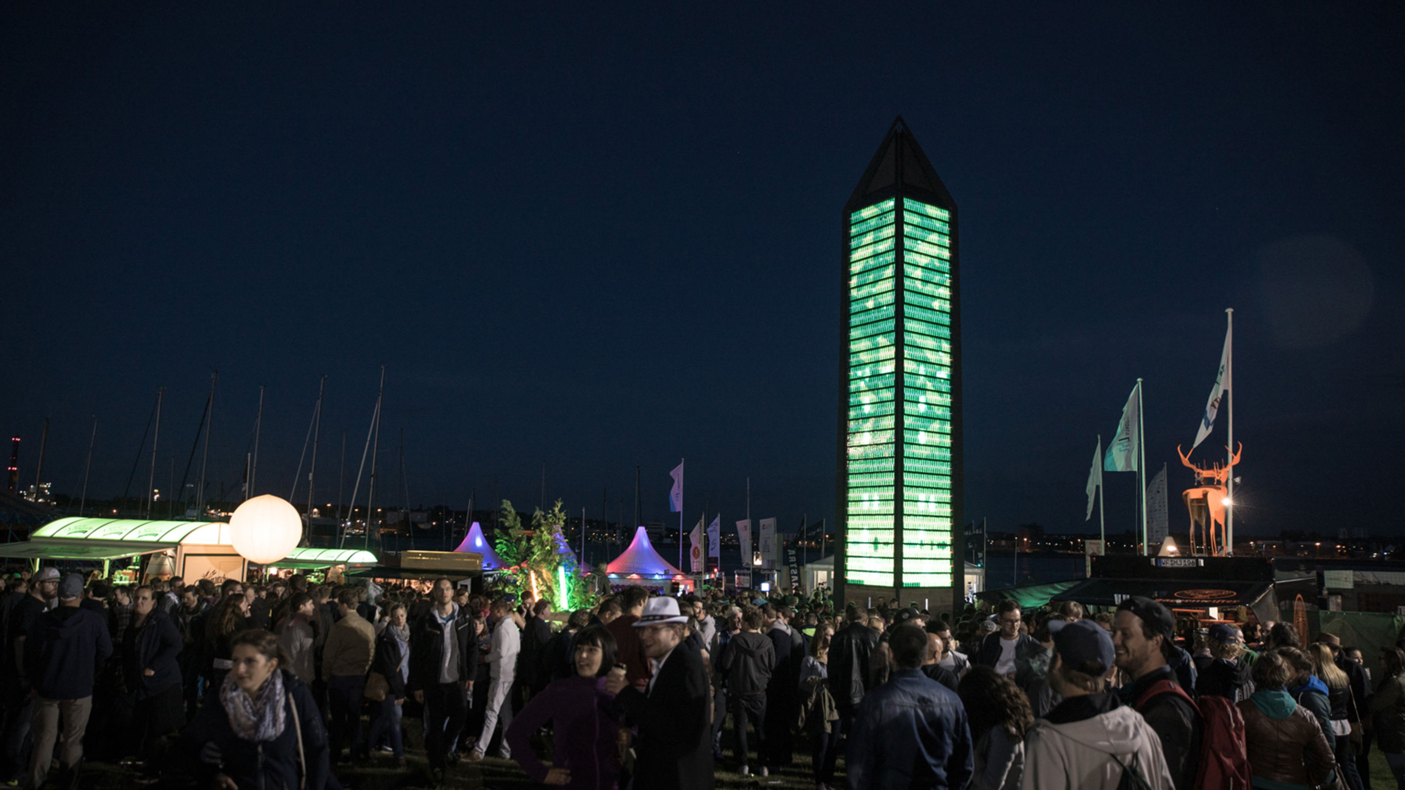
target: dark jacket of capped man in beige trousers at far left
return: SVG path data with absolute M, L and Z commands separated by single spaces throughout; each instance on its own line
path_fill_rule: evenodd
M 107 623 L 77 606 L 39 615 L 24 640 L 25 675 L 44 699 L 93 696 L 94 669 L 110 655 Z

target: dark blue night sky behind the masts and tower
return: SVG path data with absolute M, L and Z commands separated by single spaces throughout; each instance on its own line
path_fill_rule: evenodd
M 1139 376 L 1184 529 L 1234 307 L 1236 532 L 1405 532 L 1398 3 L 666 6 L 4 4 L 21 483 L 51 417 L 77 495 L 97 415 L 119 495 L 164 386 L 166 490 L 218 370 L 211 495 L 260 384 L 287 495 L 325 373 L 348 498 L 384 363 L 381 501 L 403 429 L 412 505 L 530 509 L 545 462 L 628 521 L 638 464 L 676 523 L 687 457 L 688 526 L 747 477 L 753 518 L 832 516 L 840 209 L 901 114 L 960 205 L 968 518 L 1083 529 Z

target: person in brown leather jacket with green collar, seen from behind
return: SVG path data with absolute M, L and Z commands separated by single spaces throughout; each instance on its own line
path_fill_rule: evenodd
M 1301 707 L 1287 685 L 1297 671 L 1276 650 L 1253 662 L 1253 695 L 1238 703 L 1255 787 L 1308 790 L 1332 773 L 1332 745 L 1316 718 Z

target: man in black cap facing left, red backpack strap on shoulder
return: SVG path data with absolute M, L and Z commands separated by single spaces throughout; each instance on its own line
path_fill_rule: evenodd
M 1163 605 L 1132 595 L 1113 619 L 1117 668 L 1132 682 L 1121 689 L 1123 702 L 1142 714 L 1161 738 L 1162 755 L 1176 790 L 1194 790 L 1204 732 L 1200 711 L 1168 664 L 1175 650 L 1176 620 Z

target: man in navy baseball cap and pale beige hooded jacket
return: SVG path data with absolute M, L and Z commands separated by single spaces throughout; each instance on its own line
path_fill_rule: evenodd
M 1093 620 L 1054 634 L 1050 685 L 1064 702 L 1024 737 L 1021 787 L 1114 790 L 1127 770 L 1151 790 L 1175 787 L 1156 732 L 1107 690 L 1114 660 L 1113 637 Z

